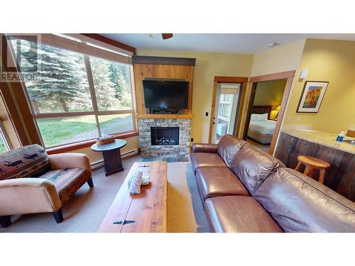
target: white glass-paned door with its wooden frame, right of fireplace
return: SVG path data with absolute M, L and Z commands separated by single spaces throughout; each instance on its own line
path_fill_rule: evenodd
M 236 135 L 241 121 L 247 77 L 214 77 L 209 143 L 218 143 L 223 135 Z

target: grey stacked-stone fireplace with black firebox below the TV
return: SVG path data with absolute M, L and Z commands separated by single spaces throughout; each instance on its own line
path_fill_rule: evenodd
M 138 118 L 142 157 L 189 157 L 191 119 Z

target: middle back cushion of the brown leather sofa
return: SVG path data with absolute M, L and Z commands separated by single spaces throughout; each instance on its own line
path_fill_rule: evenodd
M 280 160 L 261 150 L 245 145 L 230 168 L 251 194 L 263 182 L 263 179 L 275 172 L 278 167 L 285 167 Z

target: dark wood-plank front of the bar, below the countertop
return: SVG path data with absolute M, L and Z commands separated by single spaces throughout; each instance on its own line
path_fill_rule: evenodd
M 329 162 L 324 185 L 355 201 L 355 155 L 342 150 L 302 140 L 281 132 L 275 157 L 286 167 L 295 169 L 298 155 L 308 155 Z M 303 167 L 304 168 L 304 167 Z M 303 172 L 304 169 L 301 169 Z M 316 177 L 318 172 L 316 171 Z

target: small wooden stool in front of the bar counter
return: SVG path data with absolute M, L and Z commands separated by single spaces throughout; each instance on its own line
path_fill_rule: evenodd
M 305 172 L 303 174 L 307 175 L 308 177 L 312 177 L 312 174 L 315 170 L 320 170 L 320 176 L 318 178 L 318 182 L 323 184 L 324 182 L 324 174 L 325 170 L 330 167 L 329 162 L 326 162 L 324 160 L 315 158 L 315 157 L 310 157 L 310 156 L 303 156 L 300 155 L 297 157 L 298 159 L 298 165 L 296 166 L 295 170 L 299 171 L 301 169 L 301 165 L 305 165 Z

